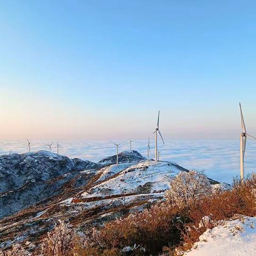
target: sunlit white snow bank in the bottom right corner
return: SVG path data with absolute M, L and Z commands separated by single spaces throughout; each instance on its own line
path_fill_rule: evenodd
M 199 237 L 187 256 L 255 256 L 256 217 L 239 216 L 208 229 Z

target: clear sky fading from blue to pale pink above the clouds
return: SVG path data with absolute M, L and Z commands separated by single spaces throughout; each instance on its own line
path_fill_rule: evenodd
M 254 1 L 0 0 L 1 139 L 256 134 Z

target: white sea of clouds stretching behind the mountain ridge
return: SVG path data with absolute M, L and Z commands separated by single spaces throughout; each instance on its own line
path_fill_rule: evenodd
M 31 151 L 49 150 L 46 144 L 52 141 L 31 140 Z M 130 150 L 129 141 L 119 146 L 119 151 Z M 70 158 L 88 159 L 98 162 L 100 159 L 116 154 L 116 148 L 110 141 L 59 141 L 59 154 Z M 154 141 L 150 143 L 150 157 L 154 158 Z M 138 150 L 147 157 L 147 141 L 132 142 L 132 149 Z M 27 142 L 2 141 L 0 155 L 25 153 Z M 159 143 L 160 158 L 175 162 L 190 170 L 204 170 L 208 177 L 231 183 L 233 177 L 239 175 L 239 139 L 238 140 L 167 140 L 165 145 Z M 57 143 L 52 145 L 52 151 L 57 153 Z M 256 172 L 256 143 L 247 139 L 245 154 L 245 174 Z

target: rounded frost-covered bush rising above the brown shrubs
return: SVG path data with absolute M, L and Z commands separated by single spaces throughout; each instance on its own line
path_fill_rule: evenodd
M 170 189 L 166 191 L 167 201 L 185 207 L 195 204 L 199 199 L 210 195 L 212 188 L 203 171 L 180 172 L 170 182 Z

